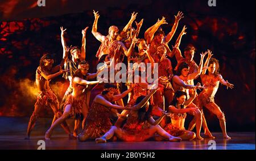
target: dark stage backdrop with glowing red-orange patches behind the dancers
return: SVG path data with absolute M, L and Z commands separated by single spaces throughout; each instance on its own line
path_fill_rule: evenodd
M 96 52 L 100 46 L 92 33 L 93 9 L 99 11 L 98 31 L 107 35 L 112 25 L 121 30 L 129 21 L 131 12 L 144 19 L 139 37 L 162 16 L 168 24 L 162 26 L 168 33 L 174 24 L 174 15 L 183 11 L 177 31 L 169 43 L 174 45 L 184 25 L 180 49 L 191 43 L 196 46 L 195 61 L 200 53 L 210 49 L 220 61 L 224 79 L 235 84 L 233 90 L 219 87 L 216 103 L 225 112 L 228 131 L 255 131 L 255 1 L 220 1 L 209 7 L 208 1 L 49 1 L 38 7 L 35 0 L 0 2 L 0 116 L 28 117 L 36 101 L 35 70 L 43 53 L 56 53 L 56 62 L 62 57 L 60 26 L 67 28 L 68 45 L 81 46 L 81 30 L 89 26 L 86 35 L 86 60 L 96 67 Z M 135 27 L 135 24 L 134 24 Z M 171 58 L 176 66 L 175 58 Z M 56 63 L 56 64 L 57 64 Z M 199 80 L 200 81 L 200 80 Z M 59 100 L 68 82 L 58 77 L 51 82 Z M 42 112 L 52 117 L 51 110 Z M 216 116 L 205 109 L 209 129 L 220 131 Z

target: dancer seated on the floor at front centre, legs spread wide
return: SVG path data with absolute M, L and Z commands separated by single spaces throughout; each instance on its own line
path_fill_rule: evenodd
M 154 137 L 155 133 L 161 135 L 171 142 L 181 141 L 181 138 L 168 134 L 158 125 L 163 117 L 166 116 L 166 113 L 163 113 L 163 116 L 158 118 L 156 121 L 154 118 L 152 118 L 152 116 L 150 116 L 152 107 L 150 106 L 148 99 L 150 99 L 155 91 L 156 90 L 152 90 L 146 97 L 140 96 L 136 100 L 136 104 L 138 106 L 141 101 L 146 99 L 146 105 L 144 105 L 144 103 L 142 104 L 142 107 L 141 105 L 139 106 L 139 109 L 133 109 L 130 111 L 127 122 L 123 128 L 112 126 L 111 129 L 102 137 L 95 139 L 96 143 L 104 143 L 114 135 L 122 141 L 146 141 L 147 139 Z

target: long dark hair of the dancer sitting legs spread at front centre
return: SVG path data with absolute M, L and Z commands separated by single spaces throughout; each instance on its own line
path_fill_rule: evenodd
M 143 99 L 145 98 L 145 96 L 139 96 L 136 100 L 136 103 L 135 104 L 139 104 Z M 148 110 L 146 111 L 146 105 L 145 104 L 142 108 L 140 108 L 138 110 L 138 119 L 139 119 L 139 122 L 144 122 L 146 120 L 148 120 L 148 118 L 150 118 L 151 116 L 151 112 L 152 112 L 152 105 L 150 105 L 148 107 Z

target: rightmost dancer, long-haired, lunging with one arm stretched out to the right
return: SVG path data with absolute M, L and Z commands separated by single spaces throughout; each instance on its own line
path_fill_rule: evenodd
M 208 66 L 208 64 L 207 64 Z M 224 112 L 214 102 L 214 96 L 218 90 L 218 85 L 221 83 L 228 88 L 234 88 L 234 84 L 225 81 L 219 71 L 219 63 L 216 58 L 210 58 L 208 72 L 205 70 L 201 74 L 201 80 L 204 84 L 204 90 L 199 94 L 199 107 L 206 107 L 210 112 L 214 113 L 220 121 L 220 127 L 223 137 L 225 139 L 231 139 L 226 133 L 226 119 Z M 193 126 L 192 126 L 193 127 Z

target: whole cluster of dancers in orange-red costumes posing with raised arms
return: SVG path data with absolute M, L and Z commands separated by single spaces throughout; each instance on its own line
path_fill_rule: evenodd
M 131 19 L 121 32 L 118 27 L 110 26 L 107 36 L 97 31 L 100 15 L 95 11 L 93 13 L 92 34 L 101 42 L 96 57 L 98 64 L 103 65 L 98 67 L 97 73 L 88 73 L 90 65 L 85 61 L 88 27 L 82 30 L 81 48 L 69 47 L 65 43 L 66 29 L 60 27 L 63 60 L 60 65 L 53 66 L 51 54 L 44 54 L 40 59 L 39 67 L 36 69 L 36 86 L 39 93 L 34 112 L 28 122 L 26 139 L 30 139 L 31 130 L 43 108 L 51 108 L 54 113 L 45 139 L 51 138 L 53 130 L 58 125 L 61 125 L 69 135 L 69 139 L 79 139 L 79 141 L 95 139 L 97 143 L 106 142 L 108 139 L 113 141 L 116 139 L 146 141 L 150 138 L 156 141 L 203 140 L 200 135 L 202 126 L 204 136 L 214 138 L 208 129 L 203 107 L 217 116 L 223 137 L 230 139 L 226 133 L 224 112 L 214 103 L 214 95 L 220 83 L 227 88 L 233 88 L 234 85 L 222 78 L 218 60 L 212 57 L 212 51 L 207 50 L 201 53 L 201 60 L 197 65 L 193 60 L 196 50 L 193 45 L 188 45 L 184 49 L 184 54 L 181 53 L 179 46 L 181 38 L 186 34 L 185 26 L 172 50 L 168 45 L 179 21 L 184 18 L 183 12 L 175 15 L 174 26 L 167 35 L 160 27 L 167 24 L 163 17 L 146 30 L 144 39 L 138 38 L 143 19 L 139 23 L 135 22 L 137 28 L 132 26 L 137 13 L 131 14 Z M 205 56 L 207 58 L 204 61 Z M 175 68 L 172 68 L 170 61 L 172 57 L 177 60 Z M 148 72 L 147 65 L 146 68 L 133 68 L 139 73 L 133 75 L 133 79 L 138 79 L 139 82 L 106 83 L 111 78 L 92 81 L 100 73 L 108 70 L 111 64 L 126 60 L 137 65 L 144 62 L 154 66 L 158 63 L 158 84 L 148 83 L 147 79 L 142 77 Z M 49 86 L 49 82 L 59 75 L 63 75 L 70 82 L 61 103 Z M 199 77 L 203 85 L 194 84 L 194 79 Z M 151 88 L 148 88 L 148 85 L 152 85 Z M 197 94 L 197 90 L 200 90 L 200 94 Z M 128 101 L 124 103 L 123 98 L 127 95 Z M 186 130 L 184 122 L 187 113 L 193 116 L 193 120 Z M 67 118 L 71 117 L 75 119 L 73 132 L 66 122 Z M 80 125 L 82 131 L 79 133 Z M 192 132 L 194 127 L 196 133 Z

